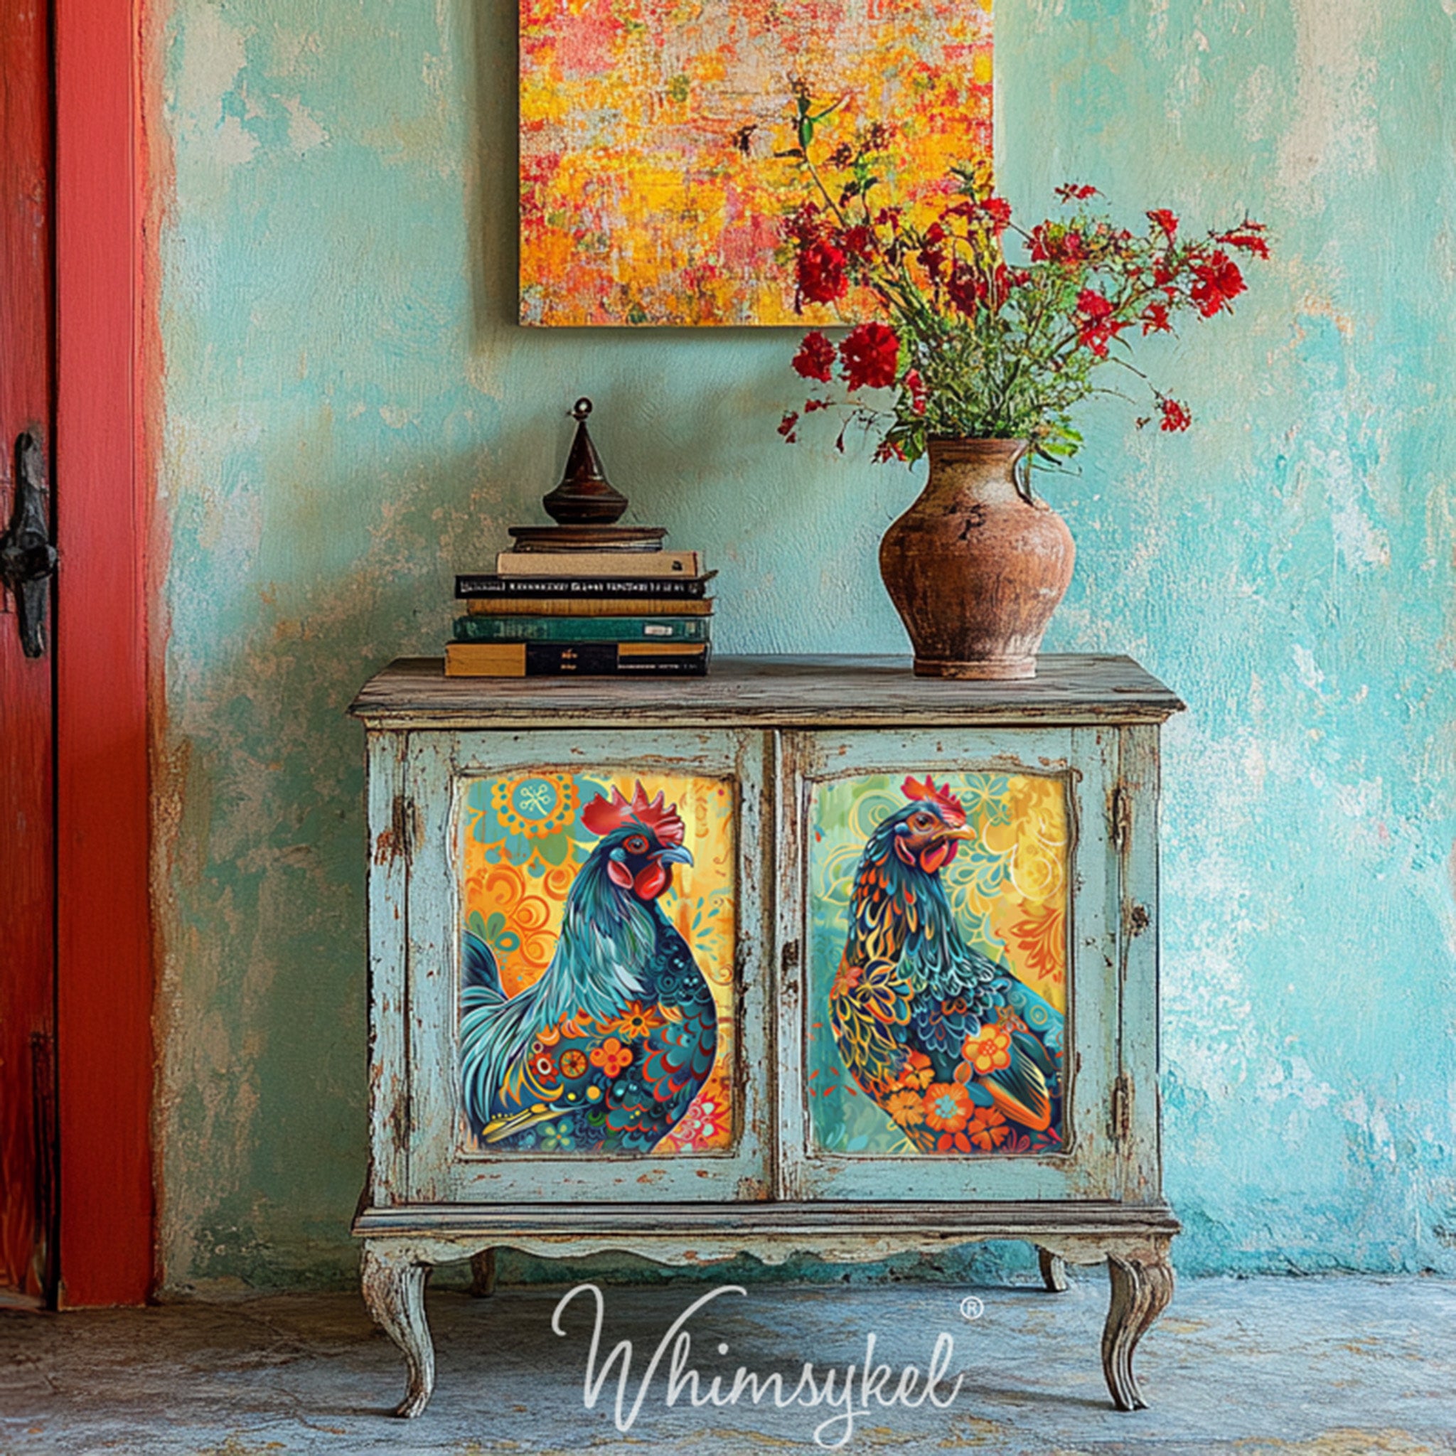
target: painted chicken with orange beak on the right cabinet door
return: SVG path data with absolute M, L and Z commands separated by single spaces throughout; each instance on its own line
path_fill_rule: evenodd
M 855 872 L 828 997 L 840 1056 L 920 1152 L 1054 1147 L 1063 1016 L 957 929 L 941 871 L 976 837 L 960 799 L 929 776 L 903 792 Z

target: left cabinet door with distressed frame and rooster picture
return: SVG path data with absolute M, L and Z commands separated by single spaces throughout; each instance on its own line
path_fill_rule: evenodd
M 409 1200 L 767 1195 L 764 754 L 411 735 Z

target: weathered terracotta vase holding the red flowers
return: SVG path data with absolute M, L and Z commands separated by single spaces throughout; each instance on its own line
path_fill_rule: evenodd
M 1024 495 L 1025 440 L 932 440 L 930 478 L 879 543 L 920 677 L 1035 677 L 1072 581 L 1067 523 Z

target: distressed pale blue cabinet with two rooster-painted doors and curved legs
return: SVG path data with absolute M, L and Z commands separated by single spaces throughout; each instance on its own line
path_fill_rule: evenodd
M 722 657 L 657 683 L 447 680 L 438 660 L 374 677 L 351 709 L 370 821 L 354 1233 L 408 1361 L 399 1414 L 434 1383 L 438 1262 L 981 1239 L 1034 1243 L 1048 1289 L 1063 1261 L 1107 1261 L 1107 1383 L 1142 1406 L 1133 1351 L 1178 1232 L 1158 741 L 1181 708 L 1125 657 L 1044 657 L 1013 684 L 850 657 Z M 619 914 L 658 930 L 622 949 Z M 990 962 L 1008 974 L 978 1010 L 936 980 Z M 575 1005 L 601 974 L 619 1000 Z M 566 999 L 504 1037 L 499 1008 L 552 977 Z

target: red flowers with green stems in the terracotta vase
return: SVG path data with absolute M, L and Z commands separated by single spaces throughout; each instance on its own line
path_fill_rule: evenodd
M 837 446 L 855 422 L 879 430 L 877 460 L 916 460 L 943 438 L 1028 440 L 1035 456 L 1067 459 L 1082 444 L 1073 409 L 1117 365 L 1149 384 L 1165 431 L 1187 430 L 1188 406 L 1150 386 L 1131 361 L 1131 339 L 1172 333 L 1179 314 L 1213 319 L 1243 293 L 1238 256 L 1268 258 L 1259 223 L 1190 237 L 1166 208 L 1146 214 L 1146 232 L 1118 227 L 1095 210 L 1096 188 L 1057 189 L 1064 213 L 1029 230 L 989 175 L 952 169 L 945 205 L 926 226 L 879 198 L 890 132 L 871 125 L 815 156 L 815 138 L 839 102 L 815 109 L 794 87 L 796 146 L 778 153 L 804 175 L 808 195 L 785 220 L 795 307 L 871 301 L 878 317 L 834 344 L 805 335 L 794 368 L 817 384 L 842 383 L 850 397 L 814 395 L 783 416 L 798 438 L 804 415 L 839 408 Z M 1008 256 L 1008 243 L 1022 256 Z M 894 390 L 888 409 L 856 397 Z

